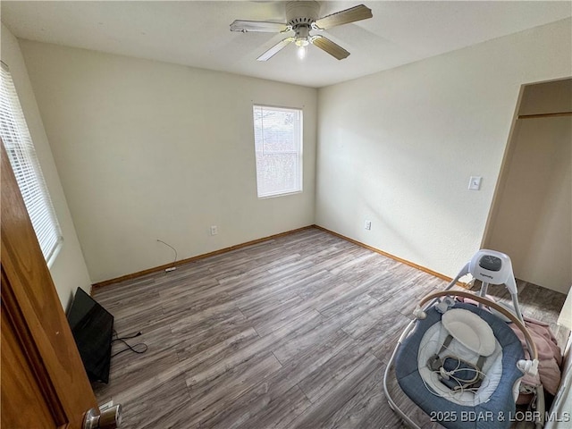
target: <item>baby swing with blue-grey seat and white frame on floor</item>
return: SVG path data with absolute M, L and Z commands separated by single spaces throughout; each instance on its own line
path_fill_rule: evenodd
M 467 274 L 482 282 L 477 295 L 451 290 Z M 490 284 L 506 285 L 512 307 L 485 297 Z M 410 427 L 419 428 L 391 398 L 388 378 L 394 367 L 402 391 L 440 425 L 508 428 L 516 412 L 520 381 L 525 373 L 535 374 L 538 367 L 534 341 L 520 312 L 510 258 L 494 250 L 479 250 L 446 290 L 422 299 L 414 315 L 416 319 L 401 334 L 383 377 L 391 408 Z M 508 323 L 524 334 L 526 350 Z M 535 424 L 542 427 L 543 388 L 534 388 Z

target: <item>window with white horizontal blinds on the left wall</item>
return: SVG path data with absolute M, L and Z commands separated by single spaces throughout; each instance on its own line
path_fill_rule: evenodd
M 0 83 L 0 137 L 29 218 L 36 231 L 39 246 L 51 264 L 63 241 L 60 225 L 55 218 L 52 200 L 47 193 L 46 181 L 40 169 L 36 150 L 29 136 L 28 125 L 21 110 L 20 100 L 14 88 L 12 76 L 2 63 Z

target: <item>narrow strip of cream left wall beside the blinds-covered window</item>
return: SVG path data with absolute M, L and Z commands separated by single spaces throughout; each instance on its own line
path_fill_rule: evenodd
M 38 153 L 39 163 L 46 178 L 50 197 L 54 202 L 55 213 L 62 227 L 63 247 L 50 267 L 55 288 L 65 309 L 76 288 L 89 292 L 91 290 L 88 270 L 81 253 L 80 243 L 71 221 L 71 214 L 63 194 L 62 184 L 55 169 L 54 157 L 46 137 L 46 131 L 38 112 L 38 105 L 29 82 L 28 71 L 21 56 L 18 40 L 9 29 L 2 24 L 2 61 L 10 68 L 14 86 L 18 92 L 20 103 L 29 133 Z

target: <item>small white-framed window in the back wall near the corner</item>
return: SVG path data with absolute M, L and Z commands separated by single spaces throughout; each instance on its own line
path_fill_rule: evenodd
M 302 190 L 302 111 L 254 106 L 258 198 Z

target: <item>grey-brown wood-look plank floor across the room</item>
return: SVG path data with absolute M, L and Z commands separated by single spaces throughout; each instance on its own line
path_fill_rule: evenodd
M 399 428 L 383 371 L 416 300 L 445 286 L 314 228 L 115 283 L 95 299 L 148 349 L 114 357 L 97 400 L 132 429 Z M 564 295 L 520 288 L 525 313 L 556 320 Z

